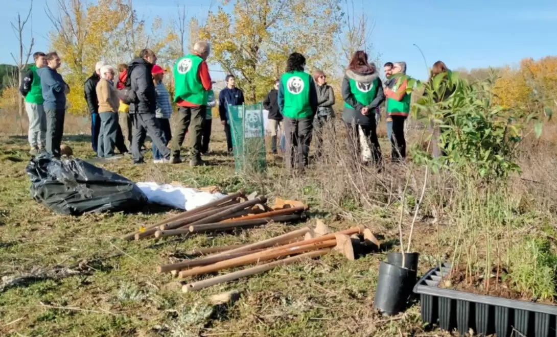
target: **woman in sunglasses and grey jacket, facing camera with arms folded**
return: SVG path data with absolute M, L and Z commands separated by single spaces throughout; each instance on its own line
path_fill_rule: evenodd
M 317 115 L 314 118 L 315 146 L 317 148 L 315 156 L 319 158 L 323 147 L 323 132 L 328 127 L 334 127 L 335 92 L 333 87 L 327 84 L 327 77 L 323 71 L 314 71 L 313 77 L 317 92 Z

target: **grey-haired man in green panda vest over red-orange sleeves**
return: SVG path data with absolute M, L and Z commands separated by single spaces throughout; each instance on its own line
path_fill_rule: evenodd
M 203 166 L 201 160 L 203 122 L 207 118 L 209 90 L 212 89 L 207 57 L 211 47 L 206 41 L 196 42 L 192 53 L 174 65 L 174 102 L 178 106 L 178 122 L 172 139 L 172 163 L 181 163 L 180 147 L 189 129 L 190 166 Z

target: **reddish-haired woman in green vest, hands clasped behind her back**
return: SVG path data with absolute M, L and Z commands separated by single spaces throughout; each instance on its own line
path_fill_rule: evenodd
M 368 54 L 357 51 L 346 69 L 341 92 L 344 100 L 343 121 L 346 124 L 350 153 L 360 161 L 361 148 L 369 147 L 375 165 L 382 164 L 381 148 L 375 125 L 375 109 L 385 100 L 383 84 Z M 360 138 L 360 132 L 363 137 Z M 367 141 L 367 146 L 360 143 Z M 367 163 L 367 159 L 364 161 Z

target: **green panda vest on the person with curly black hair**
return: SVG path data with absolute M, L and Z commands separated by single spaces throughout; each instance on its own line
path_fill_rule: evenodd
M 303 71 L 287 72 L 281 77 L 284 89 L 284 111 L 288 118 L 313 115 L 310 105 L 310 75 Z

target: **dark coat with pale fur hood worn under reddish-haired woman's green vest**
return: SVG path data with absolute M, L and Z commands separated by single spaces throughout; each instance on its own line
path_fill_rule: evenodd
M 377 92 L 375 93 L 375 98 L 367 106 L 367 108 L 369 109 L 368 115 L 361 114 L 361 109 L 364 106 L 361 105 L 360 102 L 356 101 L 354 94 L 351 92 L 350 79 L 361 83 L 370 83 L 375 81 L 376 79 L 378 80 Z M 343 94 L 344 102 L 354 107 L 353 109 L 351 107 L 344 105 L 343 120 L 346 123 L 350 123 L 350 124 L 356 123 L 358 125 L 375 124 L 375 108 L 377 108 L 385 100 L 385 93 L 383 92 L 383 84 L 381 83 L 381 80 L 377 72 L 374 72 L 370 75 L 363 75 L 358 72 L 347 70 L 343 78 L 342 94 Z

